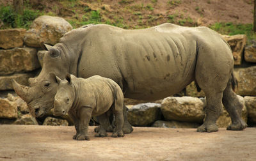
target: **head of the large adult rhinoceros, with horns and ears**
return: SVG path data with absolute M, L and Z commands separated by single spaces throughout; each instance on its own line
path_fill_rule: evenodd
M 67 56 L 58 44 L 45 45 L 48 52 L 44 56 L 42 71 L 38 77 L 29 79 L 29 86 L 13 81 L 13 89 L 27 104 L 31 114 L 42 117 L 53 108 L 57 82 L 55 75 L 64 78 L 68 73 Z

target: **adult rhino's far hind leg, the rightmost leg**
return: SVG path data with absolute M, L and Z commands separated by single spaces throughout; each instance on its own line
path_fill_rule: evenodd
M 239 102 L 236 93 L 232 90 L 231 79 L 228 81 L 227 88 L 223 91 L 222 103 L 230 114 L 232 124 L 228 125 L 227 130 L 243 130 L 247 124 L 241 118 L 243 104 Z

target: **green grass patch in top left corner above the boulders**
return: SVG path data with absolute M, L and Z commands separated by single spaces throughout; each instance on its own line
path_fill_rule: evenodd
M 0 19 L 4 22 L 2 28 L 26 28 L 28 29 L 40 15 L 39 11 L 24 9 L 23 15 L 17 14 L 11 6 L 1 6 Z

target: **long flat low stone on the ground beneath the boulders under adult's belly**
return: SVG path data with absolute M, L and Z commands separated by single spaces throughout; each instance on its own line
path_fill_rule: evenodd
M 188 123 L 181 121 L 163 121 L 157 120 L 153 123 L 152 127 L 161 127 L 161 128 L 197 128 L 199 123 Z

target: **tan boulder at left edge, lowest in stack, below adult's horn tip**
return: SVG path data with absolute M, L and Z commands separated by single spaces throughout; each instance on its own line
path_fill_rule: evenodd
M 0 118 L 18 118 L 16 102 L 12 102 L 8 98 L 0 98 Z

